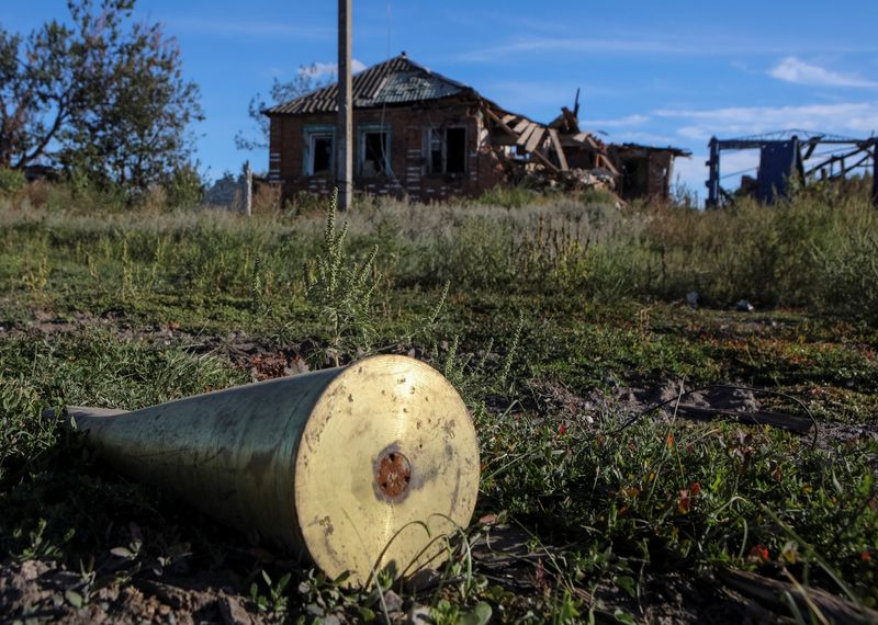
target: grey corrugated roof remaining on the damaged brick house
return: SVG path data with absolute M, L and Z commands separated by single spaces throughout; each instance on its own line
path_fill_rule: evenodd
M 448 98 L 471 88 L 430 71 L 406 56 L 373 65 L 353 77 L 353 105 L 358 109 Z M 267 115 L 299 115 L 338 111 L 338 83 L 324 87 L 263 111 Z

